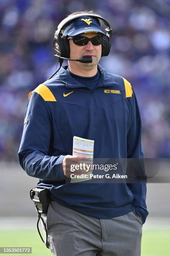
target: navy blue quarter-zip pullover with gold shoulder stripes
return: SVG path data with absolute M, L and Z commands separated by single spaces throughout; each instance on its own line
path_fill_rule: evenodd
M 66 69 L 29 94 L 20 165 L 61 205 L 100 219 L 135 210 L 144 223 L 145 183 L 65 182 L 62 159 L 72 155 L 73 136 L 95 141 L 94 158 L 144 157 L 140 112 L 130 83 L 98 65 L 100 82 L 91 92 Z

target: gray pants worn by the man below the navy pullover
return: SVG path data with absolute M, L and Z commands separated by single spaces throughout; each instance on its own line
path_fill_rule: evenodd
M 133 212 L 97 219 L 51 201 L 42 217 L 54 256 L 140 256 L 142 221 Z

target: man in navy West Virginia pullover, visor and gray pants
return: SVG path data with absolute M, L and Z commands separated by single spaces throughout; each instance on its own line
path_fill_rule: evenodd
M 73 136 L 95 141 L 94 158 L 143 158 L 135 92 L 98 64 L 105 32 L 93 12 L 83 13 L 63 35 L 70 59 L 92 63 L 69 60 L 30 94 L 19 160 L 50 191 L 44 219 L 53 255 L 139 256 L 146 184 L 66 182 L 66 159 L 81 157 L 72 156 Z

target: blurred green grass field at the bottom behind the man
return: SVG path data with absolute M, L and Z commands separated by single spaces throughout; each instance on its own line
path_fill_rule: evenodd
M 43 245 L 37 230 L 2 230 L 0 247 L 32 247 L 32 256 L 52 255 Z M 170 256 L 170 230 L 143 230 L 141 256 Z

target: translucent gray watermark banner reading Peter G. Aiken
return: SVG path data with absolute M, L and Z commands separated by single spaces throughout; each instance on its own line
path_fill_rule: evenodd
M 170 159 L 66 159 L 66 183 L 74 181 L 85 183 L 170 183 Z

